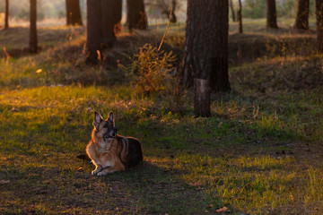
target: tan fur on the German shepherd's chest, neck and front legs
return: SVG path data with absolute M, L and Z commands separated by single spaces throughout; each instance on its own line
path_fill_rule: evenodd
M 92 140 L 86 147 L 86 152 L 92 159 L 95 169 L 92 175 L 104 176 L 107 173 L 125 170 L 125 165 L 121 162 L 120 157 L 125 156 L 124 144 L 118 139 L 112 139 L 110 142 L 103 141 L 103 134 L 106 132 L 100 124 L 100 132 L 96 132 L 95 128 L 92 131 Z

